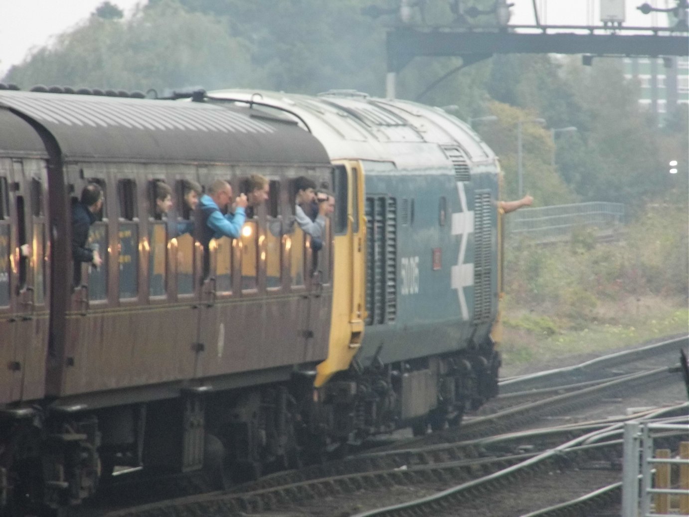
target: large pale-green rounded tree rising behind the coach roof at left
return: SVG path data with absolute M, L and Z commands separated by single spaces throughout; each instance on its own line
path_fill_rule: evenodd
M 128 20 L 91 17 L 12 67 L 6 81 L 128 90 L 250 86 L 256 79 L 249 53 L 223 23 L 162 0 Z

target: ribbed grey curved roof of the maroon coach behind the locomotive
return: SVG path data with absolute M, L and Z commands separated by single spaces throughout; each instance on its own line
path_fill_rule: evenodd
M 248 108 L 0 90 L 2 107 L 43 125 L 68 161 L 329 161 L 322 145 L 296 124 Z

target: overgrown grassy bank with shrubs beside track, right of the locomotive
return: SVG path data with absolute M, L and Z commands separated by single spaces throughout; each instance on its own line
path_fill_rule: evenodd
M 689 333 L 686 210 L 661 210 L 670 209 L 656 205 L 616 243 L 510 243 L 502 375 Z

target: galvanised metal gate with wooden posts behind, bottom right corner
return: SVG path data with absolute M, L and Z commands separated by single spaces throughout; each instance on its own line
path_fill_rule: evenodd
M 671 458 L 666 449 L 654 453 L 653 448 L 654 438 L 683 434 L 689 436 L 686 417 L 624 424 L 621 517 L 689 515 L 689 442 L 681 443 L 679 458 Z M 679 489 L 670 488 L 671 465 L 679 465 Z M 671 510 L 670 496 L 679 496 L 678 511 Z

